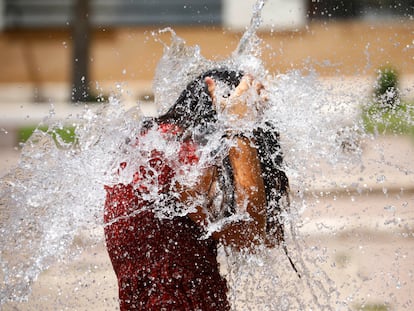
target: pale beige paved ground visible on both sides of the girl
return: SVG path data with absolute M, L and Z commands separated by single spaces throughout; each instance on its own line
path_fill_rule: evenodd
M 378 310 L 412 310 L 414 144 L 409 138 L 380 137 L 364 150 L 362 172 L 321 170 L 321 178 L 335 179 L 341 187 L 320 183 L 304 198 L 292 197 L 293 206 L 306 202 L 295 223 L 298 245 L 303 258 L 314 258 L 326 272 L 325 285 L 354 310 L 364 303 L 382 306 Z M 0 151 L 3 172 L 17 156 L 16 150 Z M 361 179 L 361 187 L 352 186 Z M 116 295 L 105 248 L 98 245 L 75 261 L 57 263 L 34 284 L 28 303 L 4 310 L 114 310 Z

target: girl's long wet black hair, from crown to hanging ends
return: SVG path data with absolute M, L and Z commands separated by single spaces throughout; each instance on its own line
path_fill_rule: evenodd
M 177 101 L 165 114 L 146 121 L 144 128 L 149 128 L 154 123 L 175 124 L 182 130 L 199 127 L 208 128 L 209 125 L 214 124 L 217 120 L 217 113 L 214 110 L 205 78 L 210 77 L 216 82 L 224 82 L 230 88 L 236 88 L 243 75 L 244 73 L 241 71 L 233 71 L 226 68 L 216 68 L 204 72 L 186 86 Z M 253 138 L 257 146 L 261 177 L 265 186 L 267 234 L 273 236 L 275 244 L 283 246 L 292 268 L 300 277 L 284 244 L 285 230 L 281 218 L 283 213 L 282 198 L 288 197 L 289 180 L 281 170 L 283 154 L 279 144 L 279 133 L 270 122 L 266 122 L 264 126 L 253 130 Z M 233 170 L 229 157 L 225 157 L 222 164 L 218 165 L 217 168 L 222 191 L 226 195 L 224 212 L 226 216 L 229 216 L 235 211 Z

